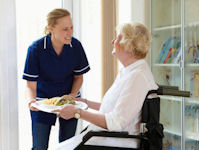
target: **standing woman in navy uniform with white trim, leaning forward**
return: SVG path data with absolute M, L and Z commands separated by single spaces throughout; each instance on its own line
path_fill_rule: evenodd
M 23 79 L 32 119 L 33 150 L 47 150 L 56 115 L 38 111 L 31 103 L 65 94 L 80 96 L 83 74 L 90 70 L 84 49 L 73 37 L 73 23 L 65 9 L 47 15 L 46 36 L 29 46 Z M 59 118 L 59 142 L 74 136 L 77 119 Z

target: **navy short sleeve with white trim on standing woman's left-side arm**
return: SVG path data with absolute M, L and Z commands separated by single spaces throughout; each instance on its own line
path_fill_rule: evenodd
M 28 53 L 25 61 L 23 79 L 28 81 L 37 81 L 39 77 L 39 58 L 38 51 L 35 45 L 28 48 Z

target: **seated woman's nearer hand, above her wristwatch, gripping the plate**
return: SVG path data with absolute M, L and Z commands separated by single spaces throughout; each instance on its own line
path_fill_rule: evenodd
M 66 104 L 63 108 L 54 110 L 52 112 L 56 112 L 58 116 L 64 119 L 71 119 L 75 116 L 77 109 L 74 105 Z

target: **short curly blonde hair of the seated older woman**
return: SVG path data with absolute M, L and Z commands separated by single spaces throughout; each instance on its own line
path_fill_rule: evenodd
M 145 58 L 151 46 L 149 29 L 141 23 L 126 23 L 117 27 L 117 33 L 122 35 L 120 46 L 128 50 L 137 59 Z

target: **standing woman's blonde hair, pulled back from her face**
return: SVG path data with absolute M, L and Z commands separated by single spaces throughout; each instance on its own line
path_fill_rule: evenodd
M 57 19 L 70 16 L 70 12 L 63 8 L 57 8 L 52 10 L 47 15 L 47 26 L 44 29 L 44 34 L 48 35 L 50 34 L 50 31 L 48 30 L 48 26 L 54 27 L 57 24 Z

